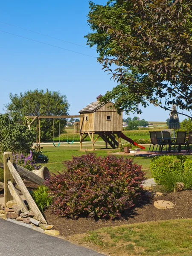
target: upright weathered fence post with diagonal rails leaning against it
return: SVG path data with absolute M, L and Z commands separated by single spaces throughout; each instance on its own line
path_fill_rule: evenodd
M 4 204 L 6 207 L 6 203 L 10 200 L 13 200 L 13 197 L 8 189 L 8 181 L 11 180 L 13 183 L 13 176 L 12 173 L 9 170 L 9 167 L 7 165 L 7 161 L 10 160 L 11 163 L 13 163 L 13 154 L 12 152 L 4 152 L 3 154 L 3 166 L 4 166 Z M 6 215 L 6 212 L 5 212 Z

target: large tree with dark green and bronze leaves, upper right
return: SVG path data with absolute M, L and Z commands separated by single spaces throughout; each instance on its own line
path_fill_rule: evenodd
M 118 85 L 101 99 L 119 112 L 148 102 L 171 110 L 192 108 L 192 1 L 90 2 L 87 43 Z M 187 115 L 188 116 L 188 115 Z M 191 117 L 191 116 L 190 116 Z

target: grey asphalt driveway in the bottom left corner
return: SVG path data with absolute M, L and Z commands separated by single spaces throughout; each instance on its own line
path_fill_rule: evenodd
M 85 247 L 0 218 L 0 256 L 102 256 Z

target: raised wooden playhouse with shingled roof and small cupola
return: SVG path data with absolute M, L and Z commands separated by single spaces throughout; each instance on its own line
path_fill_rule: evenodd
M 105 141 L 105 148 L 108 144 L 112 148 L 119 146 L 122 132 L 122 115 L 119 115 L 114 108 L 113 102 L 99 103 L 99 95 L 96 102 L 92 102 L 79 111 L 80 117 L 80 150 L 82 142 L 89 136 L 92 142 L 92 149 L 99 137 Z M 96 137 L 95 135 L 99 136 Z

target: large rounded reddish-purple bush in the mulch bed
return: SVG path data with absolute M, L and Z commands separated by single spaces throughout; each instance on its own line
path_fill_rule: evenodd
M 56 214 L 118 218 L 140 198 L 144 173 L 130 158 L 89 153 L 73 157 L 64 166 L 62 173 L 46 181 Z

